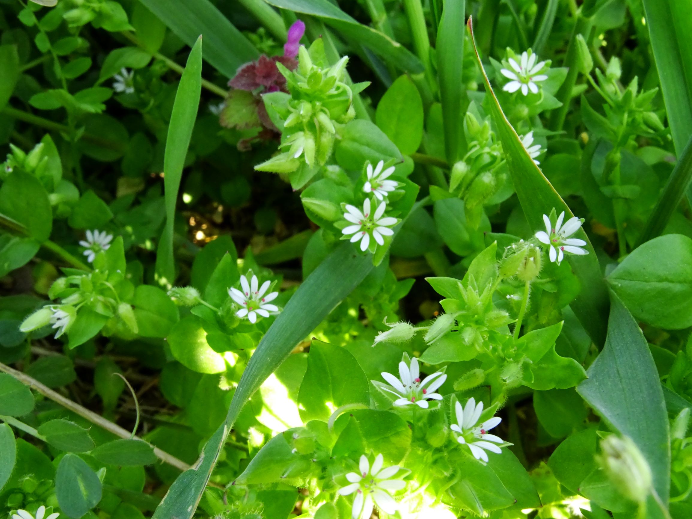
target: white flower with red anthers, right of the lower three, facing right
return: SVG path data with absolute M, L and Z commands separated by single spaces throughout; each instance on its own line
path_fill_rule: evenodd
M 466 408 L 462 408 L 462 404 L 457 401 L 455 404 L 457 423 L 452 424 L 450 429 L 459 433 L 457 441 L 462 445 L 468 445 L 475 459 L 481 459 L 487 462 L 488 454 L 485 452 L 486 450 L 490 450 L 491 453 L 496 454 L 502 453 L 500 447 L 495 445 L 503 444 L 504 441 L 502 438 L 488 434 L 488 431 L 498 426 L 502 419 L 500 417 L 492 417 L 482 424 L 479 424 L 478 419 L 480 419 L 482 412 L 483 402 L 479 402 L 478 405 L 476 405 L 475 399 L 470 398 L 466 401 Z

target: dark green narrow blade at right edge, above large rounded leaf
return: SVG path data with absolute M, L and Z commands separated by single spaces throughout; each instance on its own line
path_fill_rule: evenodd
M 675 212 L 677 206 L 680 206 L 680 201 L 688 189 L 691 179 L 692 135 L 687 141 L 687 145 L 685 146 L 682 155 L 680 158 L 678 158 L 677 164 L 675 164 L 675 169 L 673 169 L 671 176 L 668 178 L 666 187 L 664 188 L 661 197 L 658 199 L 656 207 L 646 222 L 646 228 L 644 228 L 644 232 L 641 233 L 641 236 L 639 237 L 637 247 L 663 233 L 663 230 L 666 228 L 668 220 L 671 219 L 673 212 Z

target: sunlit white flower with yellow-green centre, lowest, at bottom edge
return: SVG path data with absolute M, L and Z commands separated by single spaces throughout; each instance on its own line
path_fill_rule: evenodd
M 351 509 L 352 519 L 370 519 L 375 504 L 388 514 L 396 513 L 398 504 L 390 492 L 403 489 L 406 482 L 392 479 L 401 467 L 392 465 L 383 468 L 383 461 L 382 455 L 378 454 L 371 467 L 367 456 L 362 455 L 361 462 L 358 464 L 360 473 L 347 473 L 346 479 L 350 484 L 340 488 L 338 493 L 340 495 L 356 493 Z

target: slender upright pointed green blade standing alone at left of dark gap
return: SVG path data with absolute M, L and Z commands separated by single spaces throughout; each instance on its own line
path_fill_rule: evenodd
M 161 17 L 161 14 L 151 5 L 157 4 L 158 1 L 144 0 L 143 3 L 149 9 L 154 11 L 156 15 Z M 183 4 L 188 2 L 176 3 L 176 6 L 183 8 Z M 207 2 L 206 0 L 196 1 L 200 10 L 203 10 Z M 176 9 L 172 9 L 170 5 L 164 12 L 176 13 Z M 161 6 L 158 6 L 161 7 Z M 208 8 L 214 9 L 211 4 Z M 218 13 L 221 19 L 226 20 Z M 190 19 L 194 20 L 197 14 L 188 13 Z M 165 21 L 165 19 L 164 19 Z M 230 24 L 229 24 L 230 25 Z M 185 71 L 178 84 L 175 102 L 173 103 L 173 113 L 171 114 L 170 123 L 168 124 L 168 136 L 166 138 L 166 150 L 163 158 L 164 191 L 166 200 L 166 224 L 161 234 L 161 241 L 158 242 L 158 253 L 156 254 L 156 276 L 158 282 L 164 286 L 170 286 L 175 280 L 175 262 L 173 258 L 173 226 L 175 220 L 175 206 L 178 199 L 178 189 L 180 188 L 180 179 L 183 175 L 183 167 L 185 165 L 185 156 L 188 154 L 190 139 L 192 138 L 192 129 L 194 129 L 194 120 L 197 118 L 197 109 L 199 108 L 199 96 L 202 89 L 202 38 L 199 37 L 197 42 L 190 51 L 188 63 L 185 65 Z

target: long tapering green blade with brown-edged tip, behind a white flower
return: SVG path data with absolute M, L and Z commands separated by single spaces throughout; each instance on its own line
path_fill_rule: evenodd
M 490 96 L 489 105 L 498 130 L 498 136 L 502 142 L 502 148 L 507 156 L 507 165 L 511 174 L 514 188 L 521 203 L 524 214 L 532 228 L 543 228 L 543 215 L 555 208 L 558 214 L 565 211 L 565 218 L 572 216 L 572 211 L 558 192 L 553 188 L 543 172 L 538 169 L 534 161 L 521 143 L 519 136 L 514 131 L 509 121 L 502 112 L 500 102 L 495 97 L 493 87 L 483 69 L 483 64 L 478 55 L 473 39 L 473 26 L 471 18 L 468 19 L 468 28 L 471 30 L 471 42 L 475 50 L 478 66 L 483 73 L 486 86 L 486 95 Z M 583 327 L 597 345 L 605 342 L 607 322 L 605 315 L 608 311 L 608 292 L 605 290 L 605 282 L 601 274 L 598 258 L 594 248 L 583 229 L 580 229 L 575 237 L 586 242 L 589 251 L 587 256 L 567 256 L 567 261 L 572 266 L 572 271 L 579 278 L 581 291 L 572 301 L 570 307 L 574 310 Z

